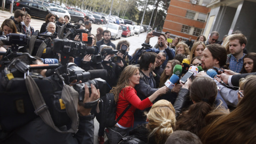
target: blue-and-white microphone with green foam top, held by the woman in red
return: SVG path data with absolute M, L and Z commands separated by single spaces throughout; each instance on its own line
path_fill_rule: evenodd
M 177 84 L 179 82 L 180 77 L 178 75 L 180 75 L 181 72 L 182 72 L 181 65 L 175 65 L 174 68 L 173 68 L 173 75 L 170 77 L 170 79 L 168 79 L 164 83 L 165 86 L 167 86 L 169 89 L 173 89 L 175 84 Z

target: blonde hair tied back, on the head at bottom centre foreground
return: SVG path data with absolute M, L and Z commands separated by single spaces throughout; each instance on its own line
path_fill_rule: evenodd
M 159 100 L 149 110 L 147 115 L 149 138 L 155 137 L 156 143 L 164 143 L 175 127 L 175 110 L 172 103 Z

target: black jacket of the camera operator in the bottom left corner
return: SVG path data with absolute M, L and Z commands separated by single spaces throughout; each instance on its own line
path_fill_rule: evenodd
M 94 115 L 79 116 L 77 133 L 59 133 L 40 117 L 16 130 L 2 143 L 91 143 L 94 138 Z

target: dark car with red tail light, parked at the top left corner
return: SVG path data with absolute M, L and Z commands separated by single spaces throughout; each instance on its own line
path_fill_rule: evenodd
M 13 10 L 22 10 L 25 7 L 26 12 L 31 15 L 31 17 L 38 17 L 45 19 L 46 15 L 50 13 L 47 8 L 39 3 L 31 1 L 17 1 L 15 2 Z M 54 13 L 56 14 L 56 13 Z

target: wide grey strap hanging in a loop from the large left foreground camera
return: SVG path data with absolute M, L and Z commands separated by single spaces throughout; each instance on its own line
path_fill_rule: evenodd
M 68 85 L 63 85 L 61 98 L 63 104 L 66 108 L 67 114 L 71 119 L 71 127 L 69 130 L 60 130 L 59 127 L 55 126 L 50 111 L 45 104 L 42 93 L 40 92 L 34 79 L 28 75 L 26 76 L 26 86 L 29 93 L 29 97 L 33 106 L 35 108 L 35 113 L 39 115 L 45 124 L 51 126 L 55 131 L 61 133 L 76 133 L 78 130 L 79 119 L 77 115 L 77 103 L 78 103 L 78 93 Z

